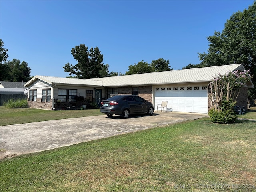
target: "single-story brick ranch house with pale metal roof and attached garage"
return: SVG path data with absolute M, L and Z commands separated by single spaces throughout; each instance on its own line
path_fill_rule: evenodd
M 164 100 L 168 101 L 169 111 L 208 113 L 209 82 L 216 74 L 234 70 L 245 69 L 242 64 L 232 64 L 92 79 L 34 76 L 24 86 L 29 89 L 28 103 L 32 108 L 80 108 L 86 102 L 100 106 L 111 96 L 134 94 L 152 102 L 155 110 Z M 254 87 L 251 80 L 240 91 L 238 106 L 247 107 L 250 87 Z

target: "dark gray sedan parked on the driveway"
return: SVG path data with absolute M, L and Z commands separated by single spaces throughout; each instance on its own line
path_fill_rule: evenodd
M 107 116 L 115 114 L 128 118 L 130 114 L 147 113 L 152 115 L 154 107 L 151 102 L 136 95 L 116 95 L 101 102 L 100 112 Z

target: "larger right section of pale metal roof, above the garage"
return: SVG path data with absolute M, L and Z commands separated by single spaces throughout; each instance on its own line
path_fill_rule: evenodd
M 216 74 L 224 74 L 228 71 L 234 70 L 244 71 L 245 69 L 242 64 L 232 64 L 164 72 L 94 78 L 91 80 L 103 81 L 104 87 L 210 82 Z M 252 81 L 249 82 L 249 86 L 250 85 L 253 86 Z

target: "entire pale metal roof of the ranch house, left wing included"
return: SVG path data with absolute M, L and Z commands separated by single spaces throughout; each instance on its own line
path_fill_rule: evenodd
M 228 71 L 241 70 L 244 71 L 242 64 L 212 66 L 203 68 L 192 68 L 183 70 L 172 70 L 154 73 L 143 73 L 134 75 L 92 78 L 92 79 L 76 79 L 61 78 L 49 76 L 34 76 L 24 86 L 40 79 L 49 84 L 70 84 L 79 86 L 139 86 L 139 85 L 158 85 L 158 84 L 177 84 L 192 82 L 210 82 L 216 74 L 224 74 Z M 248 82 L 248 87 L 254 87 L 252 81 Z

